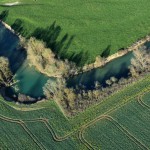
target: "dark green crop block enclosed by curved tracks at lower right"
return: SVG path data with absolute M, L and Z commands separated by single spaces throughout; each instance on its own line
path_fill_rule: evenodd
M 105 118 L 87 128 L 85 132 L 84 138 L 94 149 L 140 150 L 136 143 Z

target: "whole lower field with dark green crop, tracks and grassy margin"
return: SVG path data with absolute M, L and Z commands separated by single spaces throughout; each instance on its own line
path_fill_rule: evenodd
M 73 118 L 54 101 L 15 105 L 0 98 L 1 149 L 148 150 L 149 94 L 147 75 Z

